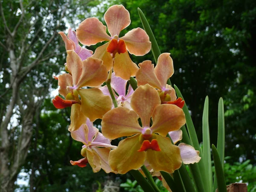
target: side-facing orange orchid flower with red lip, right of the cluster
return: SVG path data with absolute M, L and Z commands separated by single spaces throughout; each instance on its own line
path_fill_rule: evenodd
M 139 64 L 140 69 L 136 73 L 138 86 L 150 84 L 152 87 L 159 90 L 161 103 L 174 104 L 182 108 L 184 101 L 176 97 L 175 89 L 171 85 L 166 84 L 167 80 L 173 75 L 173 61 L 170 53 L 162 53 L 157 59 L 157 65 L 151 61 L 143 61 Z

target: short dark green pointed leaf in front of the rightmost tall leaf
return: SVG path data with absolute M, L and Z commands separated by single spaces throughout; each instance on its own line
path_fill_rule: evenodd
M 215 175 L 217 178 L 217 185 L 218 185 L 218 192 L 227 192 L 224 172 L 222 169 L 222 164 L 220 157 L 218 155 L 218 151 L 216 147 L 212 144 L 212 155 L 213 155 L 213 161 L 215 166 Z

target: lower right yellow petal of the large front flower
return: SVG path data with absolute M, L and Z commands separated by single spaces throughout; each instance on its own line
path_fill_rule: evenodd
M 168 137 L 162 137 L 160 135 L 156 135 L 156 137 L 161 151 L 149 149 L 146 153 L 146 159 L 154 171 L 173 173 L 182 164 L 180 148 L 173 145 Z

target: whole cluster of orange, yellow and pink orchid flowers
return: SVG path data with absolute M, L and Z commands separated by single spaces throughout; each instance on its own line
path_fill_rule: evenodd
M 68 130 L 82 143 L 81 159 L 70 161 L 93 172 L 125 174 L 145 166 L 153 176 L 161 171 L 173 173 L 182 163 L 198 163 L 199 151 L 180 143 L 186 123 L 184 101 L 167 84 L 174 74 L 170 53 L 151 61 L 135 64 L 130 54 L 142 56 L 151 49 L 147 33 L 132 29 L 123 37 L 120 31 L 131 23 L 129 12 L 122 5 L 111 6 L 104 15 L 106 26 L 92 17 L 82 21 L 67 36 L 59 32 L 67 50 L 67 73 L 54 77 L 59 94 L 52 100 L 58 108 L 71 107 Z M 81 47 L 107 41 L 93 53 Z M 135 77 L 137 88 L 128 85 Z M 129 81 L 130 82 L 130 81 Z M 128 89 L 127 89 L 128 88 Z M 93 126 L 102 119 L 102 133 Z M 118 146 L 111 140 L 121 138 Z M 142 171 L 141 171 L 142 172 Z

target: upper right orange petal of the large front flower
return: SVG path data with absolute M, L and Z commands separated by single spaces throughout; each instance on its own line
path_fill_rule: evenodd
M 185 123 L 185 114 L 176 105 L 162 104 L 152 113 L 151 131 L 165 137 L 170 131 L 177 131 Z

